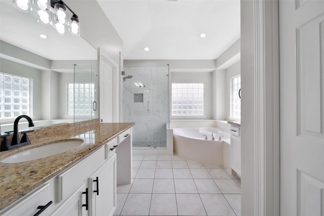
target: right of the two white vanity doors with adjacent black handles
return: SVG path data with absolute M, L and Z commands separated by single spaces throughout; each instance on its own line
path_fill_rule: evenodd
M 116 154 L 89 178 L 92 216 L 113 215 L 116 209 Z

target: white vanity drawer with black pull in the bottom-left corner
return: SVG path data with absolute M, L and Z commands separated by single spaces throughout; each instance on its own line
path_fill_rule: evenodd
M 48 207 L 39 215 L 49 215 L 53 206 L 50 203 L 50 201 L 53 201 L 52 198 L 50 196 L 49 184 L 47 183 L 1 215 L 34 215 L 41 210 L 37 209 L 39 205 L 45 206 L 47 204 L 49 204 Z

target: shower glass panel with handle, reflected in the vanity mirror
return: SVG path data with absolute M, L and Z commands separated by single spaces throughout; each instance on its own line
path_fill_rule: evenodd
M 70 113 L 70 109 L 73 109 L 74 122 L 98 117 L 97 88 L 97 67 L 94 65 L 74 65 L 74 82 L 68 84 L 68 112 Z M 72 90 L 73 97 L 70 94 Z

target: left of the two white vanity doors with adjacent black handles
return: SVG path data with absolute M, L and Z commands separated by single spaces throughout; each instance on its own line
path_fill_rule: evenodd
M 88 204 L 89 201 L 86 192 L 86 185 L 82 184 L 51 216 L 87 216 L 89 210 L 86 209 L 86 206 L 83 206 Z

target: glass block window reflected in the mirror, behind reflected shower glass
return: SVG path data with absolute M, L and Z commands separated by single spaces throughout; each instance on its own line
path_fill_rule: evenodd
M 92 102 L 95 100 L 94 83 L 67 83 L 68 115 L 94 115 Z

